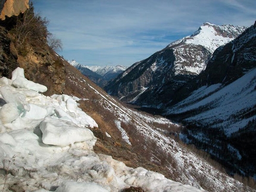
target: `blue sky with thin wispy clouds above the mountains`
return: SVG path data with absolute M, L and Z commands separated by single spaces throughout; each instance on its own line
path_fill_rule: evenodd
M 249 27 L 255 0 L 33 0 L 63 43 L 58 52 L 84 65 L 125 65 L 148 58 L 205 22 Z

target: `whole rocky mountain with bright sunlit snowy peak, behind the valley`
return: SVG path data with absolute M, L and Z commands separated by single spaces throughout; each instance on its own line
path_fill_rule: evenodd
M 204 23 L 191 36 L 170 43 L 136 62 L 105 87 L 124 102 L 161 108 L 174 93 L 204 71 L 213 52 L 233 40 L 245 27 Z

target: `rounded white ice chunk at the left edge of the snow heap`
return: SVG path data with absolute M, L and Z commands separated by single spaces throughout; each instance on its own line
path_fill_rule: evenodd
M 14 102 L 6 103 L 0 109 L 0 119 L 3 124 L 14 121 L 18 118 L 18 115 L 20 115 L 20 112 Z

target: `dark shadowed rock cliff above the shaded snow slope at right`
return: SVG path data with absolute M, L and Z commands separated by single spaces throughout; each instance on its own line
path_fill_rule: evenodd
M 255 27 L 256 24 L 232 42 L 217 48 L 207 68 L 193 81 L 181 87 L 169 105 L 185 99 L 198 87 L 232 83 L 255 67 Z

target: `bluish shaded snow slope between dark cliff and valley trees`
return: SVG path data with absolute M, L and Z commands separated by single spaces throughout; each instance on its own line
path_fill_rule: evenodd
M 221 87 L 221 84 L 203 86 L 191 96 L 168 109 L 166 114 L 182 114 L 202 109 L 202 112 L 185 119 L 188 122 L 221 127 L 227 136 L 245 127 L 256 115 L 243 118 L 242 112 L 252 110 L 256 105 L 256 69 L 249 71 L 233 83 Z M 239 117 L 239 114 L 241 117 Z

